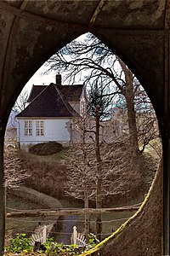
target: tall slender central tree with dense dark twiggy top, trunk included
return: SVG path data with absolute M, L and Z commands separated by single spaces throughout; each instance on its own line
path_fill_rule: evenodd
M 99 82 L 99 80 L 98 80 Z M 107 91 L 107 84 L 97 81 L 88 90 L 87 112 L 94 118 L 94 152 L 95 152 L 95 179 L 96 179 L 96 208 L 102 208 L 102 183 L 104 183 L 101 150 L 100 150 L 100 126 L 104 120 L 111 119 L 111 102 L 114 94 Z M 101 213 L 97 215 L 96 231 L 101 234 Z M 98 235 L 101 240 L 101 235 Z

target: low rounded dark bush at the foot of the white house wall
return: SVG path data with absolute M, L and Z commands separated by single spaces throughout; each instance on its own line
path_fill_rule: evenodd
M 37 155 L 49 155 L 59 153 L 63 149 L 60 143 L 49 142 L 49 143 L 38 143 L 29 149 L 31 154 Z

